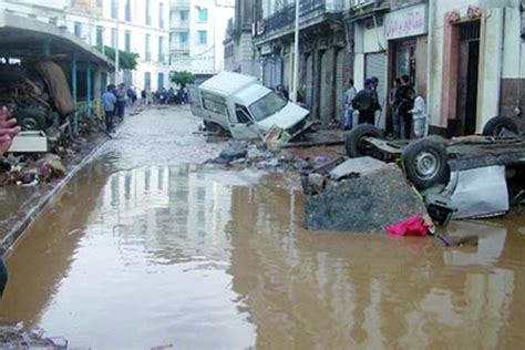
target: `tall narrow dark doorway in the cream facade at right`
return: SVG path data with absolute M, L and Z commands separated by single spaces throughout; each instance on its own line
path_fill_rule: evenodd
M 454 134 L 476 132 L 477 83 L 480 81 L 480 21 L 460 24 L 460 74 L 457 81 L 457 111 Z

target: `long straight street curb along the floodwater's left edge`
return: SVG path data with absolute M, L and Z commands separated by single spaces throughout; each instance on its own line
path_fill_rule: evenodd
M 83 168 L 95 157 L 95 155 L 99 153 L 102 146 L 107 143 L 107 141 L 110 141 L 110 138 L 106 136 L 101 137 L 96 141 L 97 144 L 91 151 L 84 155 L 79 155 L 79 157 L 82 157 L 83 159 L 73 164 L 71 169 L 69 169 L 68 175 L 58 181 L 56 184 L 53 184 L 52 188 L 42 195 L 42 197 L 33 206 L 31 206 L 29 210 L 23 213 L 21 218 L 7 230 L 0 243 L 0 256 L 2 258 L 9 257 L 16 244 L 23 236 L 25 229 L 40 216 L 45 206 L 69 184 L 71 178 L 73 178 L 73 176 L 76 175 L 81 168 Z M 16 216 L 19 213 L 17 213 Z

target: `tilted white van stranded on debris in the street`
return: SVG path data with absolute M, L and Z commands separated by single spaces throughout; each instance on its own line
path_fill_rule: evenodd
M 295 137 L 309 128 L 310 112 L 290 103 L 254 76 L 223 72 L 189 89 L 192 113 L 234 138 L 259 138 L 275 125 Z

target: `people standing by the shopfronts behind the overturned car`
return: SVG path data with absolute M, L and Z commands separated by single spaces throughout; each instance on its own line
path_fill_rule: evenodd
M 353 80 L 346 82 L 344 117 L 342 127 L 351 130 L 354 115 L 358 124 L 375 125 L 375 114 L 382 111 L 378 95 L 379 79 L 372 76 L 364 81 L 364 87 L 357 91 Z M 426 105 L 423 96 L 410 84 L 409 75 L 394 80 L 390 92 L 389 104 L 392 115 L 393 136 L 395 138 L 423 137 L 426 128 Z

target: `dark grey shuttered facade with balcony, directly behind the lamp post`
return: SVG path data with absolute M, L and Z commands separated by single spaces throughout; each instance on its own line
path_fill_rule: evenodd
M 325 125 L 342 116 L 344 80 L 351 78 L 343 12 L 348 1 L 300 2 L 299 101 Z M 294 81 L 295 3 L 260 1 L 256 7 L 254 47 L 265 85 L 288 90 Z

